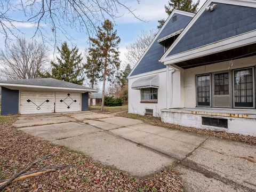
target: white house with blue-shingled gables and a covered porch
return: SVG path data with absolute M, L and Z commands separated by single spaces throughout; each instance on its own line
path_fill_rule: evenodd
M 178 13 L 170 15 L 162 31 L 173 26 L 170 20 Z M 179 17 L 174 20 L 180 22 Z M 167 50 L 161 47 L 158 68 L 149 61 L 161 50 L 159 45 L 152 50 L 154 43 L 133 68 L 129 112 L 256 136 L 256 1 L 208 0 L 183 29 L 170 30 L 165 37 L 161 30 L 154 39 L 159 44 L 179 35 Z

